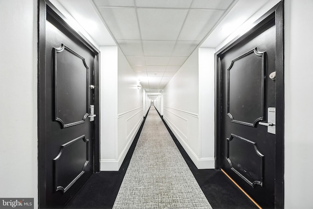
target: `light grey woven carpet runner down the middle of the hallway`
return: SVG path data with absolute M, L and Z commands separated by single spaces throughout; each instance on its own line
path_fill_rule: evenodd
M 152 107 L 113 209 L 211 209 Z

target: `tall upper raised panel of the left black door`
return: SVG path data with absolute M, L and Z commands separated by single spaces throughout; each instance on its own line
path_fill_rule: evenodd
M 63 44 L 53 51 L 55 121 L 62 128 L 84 123 L 89 115 L 89 68 L 82 56 Z

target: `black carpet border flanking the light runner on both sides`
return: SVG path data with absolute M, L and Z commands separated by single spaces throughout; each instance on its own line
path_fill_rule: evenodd
M 101 171 L 93 174 L 69 201 L 66 208 L 112 209 L 144 124 L 145 121 L 142 123 L 119 171 Z M 166 123 L 164 124 L 213 209 L 257 209 L 222 171 L 197 169 Z

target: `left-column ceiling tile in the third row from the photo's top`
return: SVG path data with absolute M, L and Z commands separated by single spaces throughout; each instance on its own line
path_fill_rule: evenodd
M 125 56 L 143 55 L 141 41 L 135 40 L 117 40 Z

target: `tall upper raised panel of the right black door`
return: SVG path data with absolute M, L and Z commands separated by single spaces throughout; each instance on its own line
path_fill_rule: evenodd
M 265 54 L 251 49 L 227 69 L 227 115 L 234 123 L 254 127 L 264 118 Z

